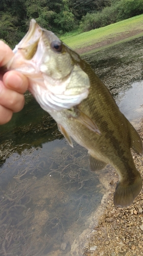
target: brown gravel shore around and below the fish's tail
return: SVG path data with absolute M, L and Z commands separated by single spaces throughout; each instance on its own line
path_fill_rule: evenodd
M 138 130 L 143 139 L 143 120 Z M 143 178 L 143 158 L 133 153 L 133 158 L 141 177 Z M 127 208 L 113 206 L 113 193 L 115 191 L 116 176 L 108 186 L 108 197 L 102 201 L 101 208 L 105 207 L 104 214 L 100 216 L 95 226 L 88 246 L 84 249 L 84 256 L 95 255 L 143 255 L 143 194 L 142 191 Z M 106 205 L 106 206 L 105 206 Z

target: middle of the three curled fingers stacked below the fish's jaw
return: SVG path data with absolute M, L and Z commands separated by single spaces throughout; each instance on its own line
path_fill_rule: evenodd
M 0 102 L 5 108 L 18 112 L 24 106 L 24 96 L 6 88 L 3 82 L 0 81 Z

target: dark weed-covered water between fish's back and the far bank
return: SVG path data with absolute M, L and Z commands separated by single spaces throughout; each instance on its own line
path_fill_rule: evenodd
M 133 82 L 143 79 L 142 39 L 140 37 L 84 56 L 115 99 Z

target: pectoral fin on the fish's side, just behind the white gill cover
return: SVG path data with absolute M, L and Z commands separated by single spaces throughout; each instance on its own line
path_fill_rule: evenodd
M 84 126 L 86 126 L 88 129 L 90 129 L 91 131 L 97 133 L 98 135 L 100 135 L 100 131 L 97 127 L 97 125 L 95 124 L 95 122 L 88 117 L 86 114 L 84 114 L 82 111 L 78 110 L 77 112 L 77 116 L 75 117 L 76 120 L 80 123 L 82 123 Z

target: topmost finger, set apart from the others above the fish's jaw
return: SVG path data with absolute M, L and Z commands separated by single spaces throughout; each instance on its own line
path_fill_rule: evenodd
M 2 67 L 7 64 L 7 62 L 13 57 L 14 53 L 10 49 L 10 47 L 1 40 L 0 40 L 0 49 L 1 49 L 0 67 Z

